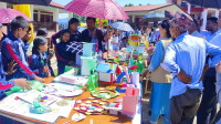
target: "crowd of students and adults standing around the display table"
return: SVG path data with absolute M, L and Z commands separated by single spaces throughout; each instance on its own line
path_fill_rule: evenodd
M 170 13 L 171 14 L 171 13 Z M 77 53 L 66 51 L 71 42 L 94 43 L 94 52 L 118 51 L 129 46 L 133 33 L 139 41 L 148 41 L 149 64 L 141 76 L 152 82 L 150 96 L 150 123 L 157 123 L 164 114 L 166 124 L 191 124 L 197 116 L 198 124 L 214 124 L 221 117 L 217 113 L 220 103 L 220 66 L 221 30 L 219 19 L 207 20 L 207 31 L 200 31 L 198 21 L 190 16 L 176 12 L 157 27 L 147 29 L 135 28 L 134 32 L 113 29 L 108 31 L 95 27 L 95 18 L 87 18 L 87 29 L 77 31 L 80 21 L 72 18 L 69 28 L 52 35 L 57 74 L 63 74 L 65 66 L 76 64 Z M 54 76 L 51 68 L 53 54 L 49 51 L 48 31 L 40 29 L 33 40 L 32 54 L 27 55 L 31 38 L 30 23 L 22 17 L 11 21 L 11 30 L 6 37 L 0 24 L 0 96 L 14 85 L 31 89 L 27 80 L 44 82 L 44 78 Z M 218 64 L 218 65 L 217 65 Z M 215 65 L 218 68 L 215 72 Z M 217 80 L 215 80 L 217 75 Z M 217 90 L 215 90 L 217 84 Z

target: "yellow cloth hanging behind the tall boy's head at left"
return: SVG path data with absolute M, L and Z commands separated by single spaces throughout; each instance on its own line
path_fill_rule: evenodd
M 24 13 L 27 17 L 29 17 L 31 19 L 30 4 L 13 4 L 13 9 Z M 31 43 L 34 40 L 33 24 L 30 23 L 30 27 L 31 27 L 31 39 L 30 39 L 29 43 Z

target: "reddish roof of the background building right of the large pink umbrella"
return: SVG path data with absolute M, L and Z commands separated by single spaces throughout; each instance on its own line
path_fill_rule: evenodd
M 150 11 L 150 10 L 164 8 L 164 7 L 167 7 L 167 6 L 172 6 L 172 3 L 124 7 L 124 11 L 125 12 L 129 12 L 129 11 Z

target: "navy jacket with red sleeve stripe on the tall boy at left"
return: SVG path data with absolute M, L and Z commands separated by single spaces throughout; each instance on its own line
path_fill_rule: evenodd
M 24 64 L 22 62 L 22 54 L 19 51 L 19 44 L 21 44 L 25 62 Z M 23 41 L 19 38 L 15 38 L 11 32 L 8 33 L 6 39 L 2 41 L 1 44 L 1 53 L 2 53 L 2 63 L 3 63 L 3 69 L 4 71 L 8 68 L 8 63 L 10 63 L 12 60 L 14 60 L 18 64 L 14 66 L 18 69 L 13 74 L 7 75 L 7 80 L 11 79 L 20 79 L 20 78 L 25 78 L 25 79 L 34 79 L 35 74 L 30 70 L 28 65 L 28 55 L 25 53 L 24 49 L 24 43 Z

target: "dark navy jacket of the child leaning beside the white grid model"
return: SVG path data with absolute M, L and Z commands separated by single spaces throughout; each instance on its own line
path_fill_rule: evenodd
M 63 42 L 61 39 L 53 41 L 54 51 L 57 60 L 59 75 L 65 71 L 65 65 L 69 65 L 70 52 L 66 51 L 69 42 Z

